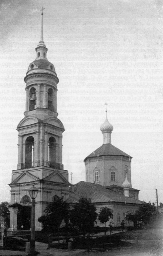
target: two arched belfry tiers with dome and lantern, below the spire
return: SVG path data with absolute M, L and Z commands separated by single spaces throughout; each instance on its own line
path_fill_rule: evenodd
M 18 169 L 48 166 L 63 169 L 62 133 L 57 118 L 57 77 L 54 65 L 47 59 L 47 48 L 40 41 L 36 59 L 30 63 L 26 83 L 25 117 L 17 126 Z

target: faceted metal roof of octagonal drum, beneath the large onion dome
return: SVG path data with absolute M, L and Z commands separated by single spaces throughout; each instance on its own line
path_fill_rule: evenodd
M 122 150 L 114 147 L 110 143 L 107 143 L 107 144 L 103 144 L 102 146 L 97 148 L 95 151 L 93 151 L 90 155 L 88 155 L 84 159 L 84 161 L 87 158 L 93 158 L 93 157 L 99 157 L 99 156 L 126 156 L 126 157 L 132 158 L 128 154 L 124 153 Z

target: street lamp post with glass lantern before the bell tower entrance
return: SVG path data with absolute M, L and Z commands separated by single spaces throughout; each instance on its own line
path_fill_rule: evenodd
M 29 190 L 32 199 L 32 212 L 31 212 L 31 241 L 30 241 L 30 255 L 36 255 L 35 252 L 35 198 L 37 197 L 38 189 L 33 185 Z

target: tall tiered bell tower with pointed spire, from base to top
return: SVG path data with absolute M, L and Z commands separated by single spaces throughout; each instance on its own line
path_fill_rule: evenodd
M 28 189 L 31 185 L 39 189 L 36 198 L 36 229 L 41 229 L 37 220 L 43 215 L 47 203 L 52 202 L 54 196 L 63 196 L 66 200 L 70 185 L 68 171 L 64 170 L 62 163 L 64 126 L 57 113 L 59 79 L 54 65 L 47 59 L 48 49 L 43 39 L 43 10 L 42 8 L 41 38 L 36 47 L 36 59 L 30 63 L 24 78 L 25 117 L 17 126 L 18 164 L 17 170 L 12 171 L 10 184 L 10 223 L 13 229 L 19 229 L 21 224 L 15 208 L 23 209 L 22 207 L 27 207 L 26 204 L 30 206 L 30 198 L 27 203 L 22 198 L 29 196 Z M 21 226 L 24 227 L 23 224 Z

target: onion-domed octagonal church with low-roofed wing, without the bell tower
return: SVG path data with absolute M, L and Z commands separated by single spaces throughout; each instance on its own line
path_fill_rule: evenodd
M 74 205 L 79 198 L 90 198 L 97 212 L 109 207 L 113 212 L 112 226 L 120 226 L 127 213 L 139 209 L 139 190 L 131 186 L 132 157 L 111 144 L 113 126 L 107 119 L 101 125 L 103 144 L 84 159 L 86 182 L 72 186 L 67 202 Z M 109 223 L 106 223 L 108 225 Z M 97 225 L 103 226 L 97 220 Z

